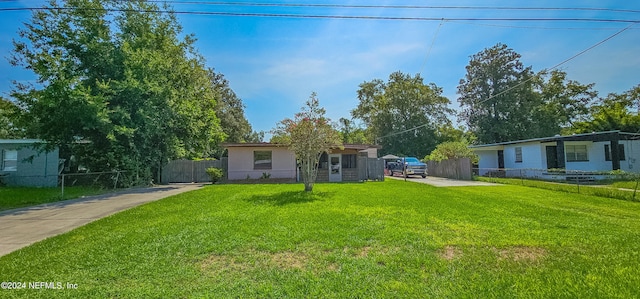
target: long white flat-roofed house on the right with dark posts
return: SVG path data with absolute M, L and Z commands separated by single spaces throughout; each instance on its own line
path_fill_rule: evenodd
M 520 170 L 517 174 L 524 176 L 539 174 L 534 170 L 540 169 L 640 172 L 640 134 L 636 133 L 608 131 L 558 135 L 470 148 L 480 158 L 480 175 L 496 169 L 516 169 Z M 615 148 L 618 150 L 612 150 Z

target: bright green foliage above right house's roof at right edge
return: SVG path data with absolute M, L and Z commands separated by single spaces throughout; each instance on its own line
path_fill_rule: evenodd
M 573 124 L 568 133 L 620 130 L 640 133 L 640 85 L 620 93 L 611 93 L 589 109 L 586 120 Z

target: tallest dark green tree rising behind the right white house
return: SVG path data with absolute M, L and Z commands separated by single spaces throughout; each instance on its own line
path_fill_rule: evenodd
M 500 43 L 471 56 L 458 85 L 459 118 L 480 143 L 539 137 L 532 111 L 541 99 L 533 90 L 531 67 L 520 57 Z

